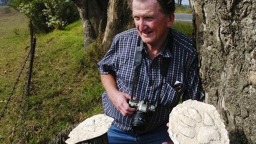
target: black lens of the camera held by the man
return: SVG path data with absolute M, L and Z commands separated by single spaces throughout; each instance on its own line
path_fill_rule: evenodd
M 135 131 L 143 131 L 146 127 L 146 121 L 148 119 L 148 114 L 142 111 L 136 111 L 132 118 L 132 129 Z

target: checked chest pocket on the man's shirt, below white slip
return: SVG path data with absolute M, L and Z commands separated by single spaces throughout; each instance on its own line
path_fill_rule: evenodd
M 180 93 L 174 90 L 171 83 L 164 83 L 160 96 L 160 104 L 165 106 L 177 105 L 180 100 Z

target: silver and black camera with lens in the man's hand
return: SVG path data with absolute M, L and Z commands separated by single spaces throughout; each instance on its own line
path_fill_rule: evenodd
M 146 127 L 148 114 L 154 113 L 156 107 L 154 105 L 150 105 L 147 101 L 132 99 L 129 100 L 129 106 L 136 109 L 135 113 L 132 115 L 132 129 L 137 132 L 143 131 Z

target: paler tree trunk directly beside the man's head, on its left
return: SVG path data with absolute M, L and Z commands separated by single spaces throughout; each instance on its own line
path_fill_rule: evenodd
M 128 7 L 130 0 L 110 0 L 108 23 L 102 42 L 102 50 L 108 51 L 113 38 L 118 33 L 134 28 L 132 10 Z

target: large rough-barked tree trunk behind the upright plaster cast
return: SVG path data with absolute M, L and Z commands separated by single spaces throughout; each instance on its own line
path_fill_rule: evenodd
M 206 103 L 230 144 L 256 142 L 256 1 L 190 0 Z

